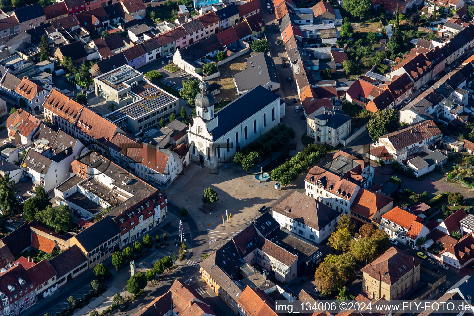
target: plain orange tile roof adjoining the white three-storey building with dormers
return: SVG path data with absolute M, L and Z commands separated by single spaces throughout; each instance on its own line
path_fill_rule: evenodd
M 393 199 L 383 194 L 376 194 L 372 190 L 361 188 L 357 192 L 356 199 L 352 202 L 351 211 L 363 217 L 374 219 L 374 215 L 378 210 L 392 202 Z

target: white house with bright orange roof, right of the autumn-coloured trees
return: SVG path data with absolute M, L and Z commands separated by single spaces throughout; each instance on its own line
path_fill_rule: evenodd
M 398 206 L 382 215 L 380 229 L 390 238 L 409 246 L 414 246 L 420 237 L 426 237 L 429 229 L 421 224 L 422 218 Z

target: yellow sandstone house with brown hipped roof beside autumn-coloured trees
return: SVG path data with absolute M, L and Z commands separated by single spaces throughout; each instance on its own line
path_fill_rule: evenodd
M 421 283 L 421 260 L 391 247 L 362 268 L 362 290 L 372 299 L 399 300 Z

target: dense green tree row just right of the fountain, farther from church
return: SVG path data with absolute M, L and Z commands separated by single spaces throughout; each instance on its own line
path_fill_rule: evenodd
M 287 186 L 309 167 L 318 163 L 325 155 L 326 146 L 309 144 L 305 149 L 290 159 L 290 161 L 275 168 L 270 174 L 270 179 L 280 182 L 283 186 Z

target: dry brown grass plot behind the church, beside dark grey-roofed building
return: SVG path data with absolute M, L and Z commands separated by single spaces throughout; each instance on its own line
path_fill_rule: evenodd
M 244 54 L 219 66 L 219 77 L 216 78 L 217 80 L 214 79 L 209 82 L 209 84 L 216 82 L 221 85 L 220 93 L 216 96 L 216 99 L 232 101 L 237 98 L 237 90 L 235 89 L 232 77 L 237 72 L 241 72 L 247 68 L 248 58 L 250 58 L 250 54 Z

